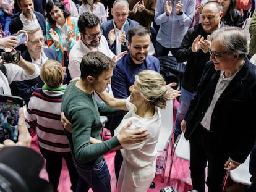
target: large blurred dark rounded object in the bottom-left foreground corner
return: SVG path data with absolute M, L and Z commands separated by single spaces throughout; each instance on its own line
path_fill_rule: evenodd
M 0 191 L 53 192 L 53 186 L 39 177 L 43 157 L 33 149 L 13 146 L 0 151 Z

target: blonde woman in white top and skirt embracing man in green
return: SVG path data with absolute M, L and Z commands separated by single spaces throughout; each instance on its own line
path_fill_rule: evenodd
M 124 116 L 115 134 L 124 125 L 132 122 L 129 129 L 147 129 L 147 140 L 141 143 L 122 144 L 121 154 L 124 160 L 121 165 L 116 192 L 147 192 L 155 178 L 156 143 L 161 128 L 160 109 L 170 99 L 169 86 L 163 77 L 153 70 L 143 70 L 135 75 L 134 85 L 130 86 L 127 99 L 115 99 L 105 93 L 99 93 L 103 101 L 110 107 L 126 107 L 129 112 Z M 119 108 L 121 109 L 121 108 Z

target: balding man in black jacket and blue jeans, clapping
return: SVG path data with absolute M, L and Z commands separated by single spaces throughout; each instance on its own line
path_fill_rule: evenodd
M 181 121 L 186 115 L 190 100 L 197 93 L 197 85 L 201 79 L 205 63 L 210 58 L 210 34 L 224 24 L 222 6 L 216 1 L 208 1 L 202 8 L 202 22 L 190 28 L 184 36 L 181 47 L 177 51 L 177 61 L 187 62 L 181 81 L 180 106 L 176 114 L 175 133 L 181 134 Z

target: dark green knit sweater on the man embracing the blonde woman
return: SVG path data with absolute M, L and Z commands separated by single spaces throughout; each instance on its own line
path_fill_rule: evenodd
M 94 165 L 101 161 L 103 154 L 120 145 L 116 136 L 102 143 L 90 144 L 90 136 L 101 140 L 100 131 L 103 125 L 100 115 L 121 114 L 124 111 L 96 101 L 94 94 L 87 94 L 77 88 L 76 82 L 67 86 L 62 97 L 62 111 L 72 123 L 72 133 L 66 131 L 66 135 L 75 161 Z

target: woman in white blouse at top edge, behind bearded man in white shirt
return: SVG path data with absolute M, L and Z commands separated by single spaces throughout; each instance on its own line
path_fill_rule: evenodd
M 79 7 L 79 16 L 88 11 L 98 16 L 101 23 L 107 21 L 106 9 L 100 0 L 82 0 L 82 5 Z

